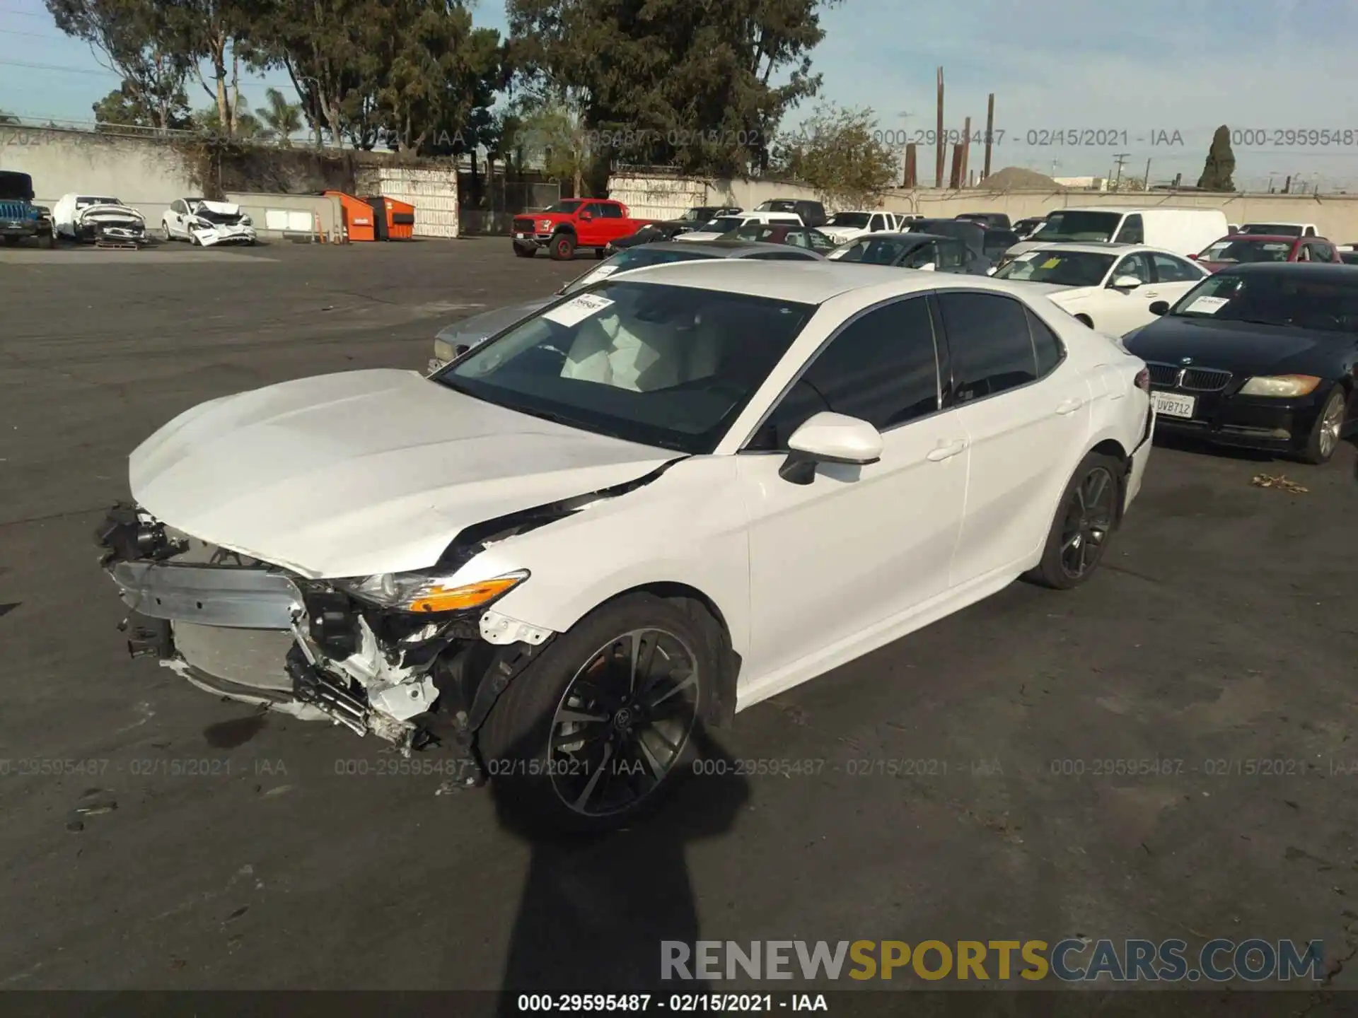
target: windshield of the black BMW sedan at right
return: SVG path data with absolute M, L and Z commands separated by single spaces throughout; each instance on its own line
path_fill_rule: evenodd
M 1304 270 L 1302 270 L 1304 271 Z M 1321 270 L 1323 271 L 1323 270 Z M 1209 276 L 1169 311 L 1175 318 L 1255 322 L 1332 333 L 1358 333 L 1358 281 L 1298 277 L 1289 269 Z

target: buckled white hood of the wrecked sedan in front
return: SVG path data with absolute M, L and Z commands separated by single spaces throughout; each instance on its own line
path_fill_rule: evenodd
M 193 407 L 137 447 L 129 479 L 185 533 L 303 576 L 354 577 L 424 569 L 464 527 L 675 457 L 379 369 Z

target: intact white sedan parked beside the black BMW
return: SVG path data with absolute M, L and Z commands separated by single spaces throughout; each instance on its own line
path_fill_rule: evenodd
M 1048 284 L 1054 304 L 1090 328 L 1123 335 L 1156 320 L 1211 273 L 1187 258 L 1133 244 L 1044 244 L 1024 251 L 993 278 Z

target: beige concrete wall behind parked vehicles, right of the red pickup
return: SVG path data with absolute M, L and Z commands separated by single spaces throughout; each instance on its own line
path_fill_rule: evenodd
M 665 175 L 626 174 L 608 182 L 610 197 L 626 202 L 634 214 L 664 219 L 691 205 L 739 205 L 752 209 L 769 198 L 811 198 L 809 187 L 769 181 L 701 181 Z M 1061 208 L 1126 205 L 1221 209 L 1230 223 L 1315 223 L 1336 243 L 1358 242 L 1358 195 L 1209 194 L 1202 191 L 982 191 L 903 190 L 883 194 L 879 208 L 952 219 L 961 212 L 1004 212 L 1010 219 L 1046 216 Z M 834 205 L 827 202 L 834 210 Z

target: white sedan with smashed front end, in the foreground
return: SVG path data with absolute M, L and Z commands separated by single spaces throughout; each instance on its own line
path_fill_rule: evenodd
M 607 827 L 698 726 L 1021 574 L 1084 582 L 1153 419 L 1142 361 L 1024 284 L 687 262 L 428 379 L 194 407 L 98 538 L 134 654 Z

